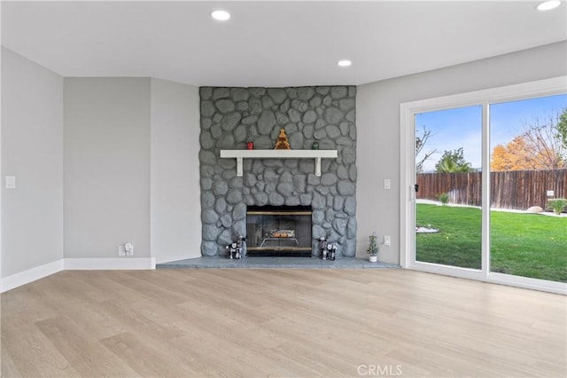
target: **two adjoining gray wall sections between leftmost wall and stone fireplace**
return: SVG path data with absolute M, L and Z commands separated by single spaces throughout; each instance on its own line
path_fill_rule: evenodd
M 65 79 L 65 257 L 200 256 L 198 88 Z

